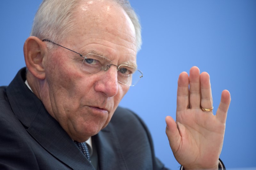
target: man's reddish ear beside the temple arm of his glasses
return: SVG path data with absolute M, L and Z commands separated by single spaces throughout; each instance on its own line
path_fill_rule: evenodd
M 37 37 L 31 36 L 24 43 L 23 47 L 26 66 L 36 78 L 45 78 L 44 60 L 47 54 L 46 44 Z

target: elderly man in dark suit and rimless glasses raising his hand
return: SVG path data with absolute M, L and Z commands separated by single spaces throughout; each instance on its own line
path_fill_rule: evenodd
M 0 88 L 0 169 L 165 169 L 145 124 L 118 107 L 143 76 L 140 45 L 129 2 L 44 0 L 24 44 L 26 68 Z M 224 90 L 214 116 L 209 75 L 180 74 L 166 134 L 186 170 L 223 167 L 229 103 Z

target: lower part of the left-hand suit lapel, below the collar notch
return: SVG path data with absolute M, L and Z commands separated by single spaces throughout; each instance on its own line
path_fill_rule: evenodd
M 94 169 L 73 140 L 42 107 L 27 130 L 54 157 L 73 169 Z

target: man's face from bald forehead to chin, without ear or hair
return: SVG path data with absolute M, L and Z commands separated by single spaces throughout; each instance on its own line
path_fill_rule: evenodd
M 82 1 L 75 28 L 62 42 L 78 53 L 95 51 L 115 65 L 136 65 L 135 31 L 127 14 L 108 1 Z M 45 59 L 42 101 L 48 112 L 76 141 L 97 134 L 110 121 L 129 86 L 117 81 L 116 67 L 102 75 L 82 71 L 83 58 L 57 47 Z

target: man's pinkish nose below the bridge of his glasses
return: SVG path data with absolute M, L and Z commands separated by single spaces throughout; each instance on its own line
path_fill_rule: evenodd
M 118 93 L 116 67 L 110 67 L 104 74 L 100 75 L 100 80 L 97 81 L 94 89 L 104 93 L 104 95 L 107 97 L 116 96 Z

